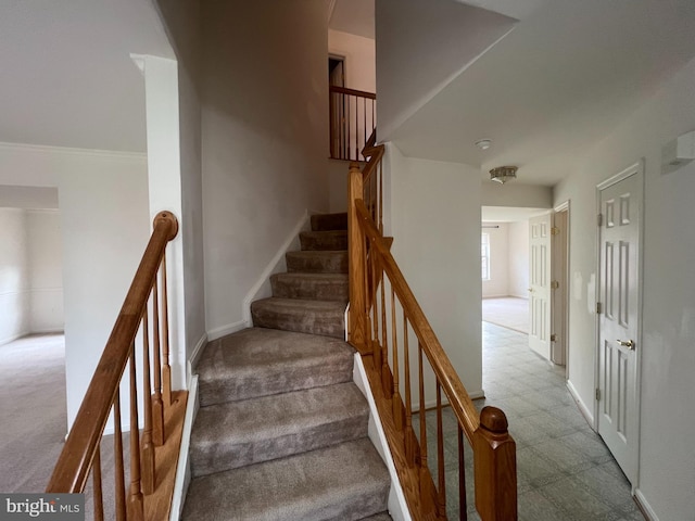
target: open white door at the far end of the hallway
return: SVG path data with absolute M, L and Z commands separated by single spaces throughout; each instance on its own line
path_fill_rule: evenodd
M 529 219 L 529 347 L 551 359 L 551 219 Z

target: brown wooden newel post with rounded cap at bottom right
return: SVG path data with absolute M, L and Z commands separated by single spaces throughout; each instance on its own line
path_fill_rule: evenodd
M 507 418 L 496 407 L 480 411 L 473 433 L 476 508 L 483 521 L 517 519 L 517 444 Z

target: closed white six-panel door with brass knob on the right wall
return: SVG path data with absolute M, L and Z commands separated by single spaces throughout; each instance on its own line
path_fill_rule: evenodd
M 634 483 L 637 467 L 640 166 L 599 188 L 598 433 Z M 630 174 L 632 171 L 632 174 Z

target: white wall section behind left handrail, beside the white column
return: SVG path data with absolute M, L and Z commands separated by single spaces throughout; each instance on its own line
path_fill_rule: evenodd
M 60 174 L 67 421 L 77 409 L 150 234 L 147 161 L 74 157 Z

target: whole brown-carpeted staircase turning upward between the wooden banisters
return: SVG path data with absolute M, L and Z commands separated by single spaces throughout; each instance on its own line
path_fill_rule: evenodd
M 345 214 L 313 216 L 254 327 L 205 347 L 185 520 L 391 519 L 343 341 L 346 228 Z

